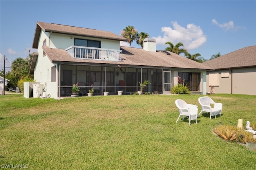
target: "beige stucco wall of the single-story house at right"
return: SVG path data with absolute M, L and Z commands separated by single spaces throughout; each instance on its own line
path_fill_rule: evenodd
M 231 72 L 232 70 L 232 72 Z M 216 70 L 219 86 L 214 86 L 213 92 L 222 94 L 256 95 L 256 67 Z M 229 72 L 228 77 L 222 77 L 222 72 Z M 207 72 L 207 88 L 210 91 L 209 72 Z

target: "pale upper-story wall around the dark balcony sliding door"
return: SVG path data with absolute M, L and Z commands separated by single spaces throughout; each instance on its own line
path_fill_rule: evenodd
M 49 35 L 50 34 L 48 34 L 48 36 Z M 100 38 L 93 38 L 93 37 L 58 34 L 58 33 L 52 33 L 50 35 L 50 45 L 49 46 L 52 48 L 66 49 L 66 48 L 74 45 L 75 38 L 100 41 L 101 48 L 120 50 L 120 41 L 119 40 L 100 39 Z

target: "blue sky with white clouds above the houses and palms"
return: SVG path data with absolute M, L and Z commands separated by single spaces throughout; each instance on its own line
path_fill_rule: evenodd
M 190 54 L 204 59 L 256 45 L 256 1 L 209 0 L 0 0 L 0 68 L 18 57 L 26 58 L 36 22 L 58 23 L 111 31 L 126 26 L 165 42 L 184 44 Z M 140 48 L 136 42 L 132 47 Z

